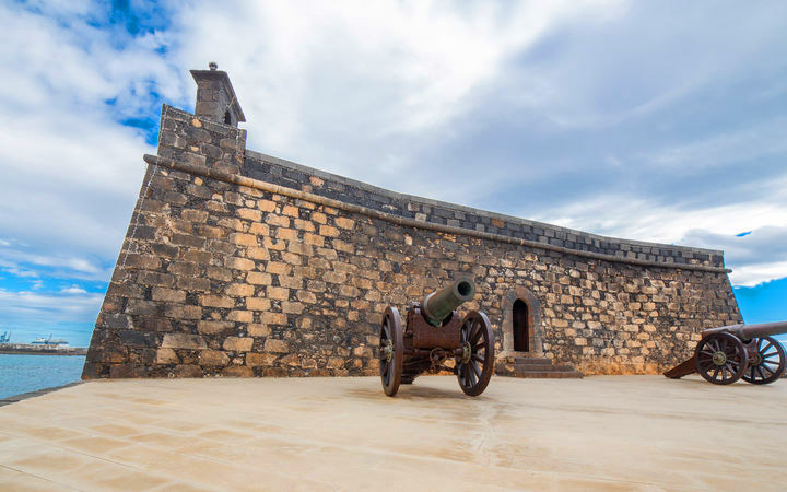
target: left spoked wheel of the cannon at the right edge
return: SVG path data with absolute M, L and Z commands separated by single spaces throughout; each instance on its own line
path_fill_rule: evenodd
M 743 376 L 748 365 L 743 342 L 726 332 L 703 338 L 694 352 L 697 373 L 715 385 L 731 385 Z

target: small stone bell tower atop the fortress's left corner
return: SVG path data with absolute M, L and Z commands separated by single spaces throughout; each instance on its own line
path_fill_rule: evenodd
M 219 66 L 211 61 L 209 70 L 191 70 L 197 82 L 197 104 L 195 115 L 211 121 L 237 127 L 238 121 L 246 121 L 235 90 L 226 72 L 216 70 Z

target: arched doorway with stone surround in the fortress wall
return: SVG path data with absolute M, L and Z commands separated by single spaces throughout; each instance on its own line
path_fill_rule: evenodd
M 503 294 L 503 351 L 543 355 L 541 303 L 528 289 Z

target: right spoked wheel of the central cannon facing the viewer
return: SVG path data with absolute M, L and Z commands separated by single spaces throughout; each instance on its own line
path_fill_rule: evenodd
M 486 389 L 494 371 L 494 333 L 485 314 L 471 311 L 461 324 L 462 355 L 457 356 L 459 386 L 469 396 Z

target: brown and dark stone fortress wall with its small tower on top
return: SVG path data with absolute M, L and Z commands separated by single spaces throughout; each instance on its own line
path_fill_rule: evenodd
M 162 110 L 83 373 L 377 374 L 378 324 L 460 276 L 460 312 L 585 374 L 655 373 L 740 323 L 721 251 L 623 241 L 396 194 L 246 149 L 228 78 L 195 71 L 197 114 Z M 224 104 L 225 102 L 230 102 Z M 214 102 L 215 104 L 212 104 Z

